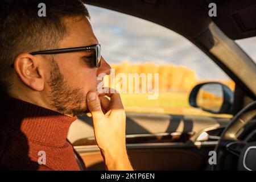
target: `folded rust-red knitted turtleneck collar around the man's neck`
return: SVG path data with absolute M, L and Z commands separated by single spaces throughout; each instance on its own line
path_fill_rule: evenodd
M 0 114 L 0 128 L 55 147 L 65 145 L 68 129 L 77 119 L 9 96 L 1 99 Z

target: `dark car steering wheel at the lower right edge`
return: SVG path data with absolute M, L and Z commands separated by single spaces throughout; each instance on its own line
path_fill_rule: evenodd
M 213 171 L 219 170 L 256 170 L 256 141 L 241 139 L 243 127 L 256 115 L 256 101 L 247 105 L 235 115 L 221 134 L 215 148 L 217 164 Z

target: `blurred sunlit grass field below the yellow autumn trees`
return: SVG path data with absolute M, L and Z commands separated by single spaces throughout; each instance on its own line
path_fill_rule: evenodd
M 228 114 L 211 114 L 189 106 L 188 93 L 160 92 L 156 100 L 148 100 L 148 94 L 121 94 L 121 97 L 125 110 L 129 112 L 232 117 Z

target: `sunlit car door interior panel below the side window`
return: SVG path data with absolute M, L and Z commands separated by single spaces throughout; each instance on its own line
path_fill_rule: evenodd
M 228 123 L 228 118 L 127 113 L 126 146 L 137 170 L 204 169 L 208 151 L 216 141 L 197 142 L 202 131 Z M 104 170 L 104 161 L 93 137 L 92 119 L 79 117 L 69 130 L 69 140 L 89 170 Z

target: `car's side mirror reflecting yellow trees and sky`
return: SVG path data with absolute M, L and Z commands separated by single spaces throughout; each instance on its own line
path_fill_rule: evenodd
M 190 95 L 189 104 L 214 114 L 232 114 L 234 93 L 220 82 L 205 82 L 196 85 Z

